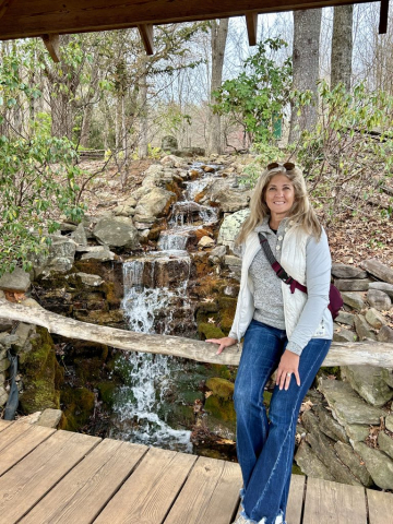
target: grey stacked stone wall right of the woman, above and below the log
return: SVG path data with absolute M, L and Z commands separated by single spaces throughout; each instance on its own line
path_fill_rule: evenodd
M 383 314 L 392 308 L 393 270 L 372 259 L 361 266 L 333 264 L 344 299 L 334 340 L 393 342 Z M 341 378 L 321 377 L 323 396 L 310 393 L 312 407 L 301 416 L 295 460 L 308 476 L 393 489 L 392 370 L 344 366 Z

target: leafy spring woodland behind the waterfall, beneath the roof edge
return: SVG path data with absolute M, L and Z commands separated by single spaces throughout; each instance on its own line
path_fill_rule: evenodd
M 378 24 L 376 3 L 260 15 L 255 47 L 243 19 L 162 25 L 152 57 L 134 29 L 64 35 L 59 63 L 40 39 L 1 43 L 0 273 L 28 269 L 61 214 L 78 222 L 102 172 L 130 191 L 166 135 L 251 152 L 250 184 L 295 159 L 324 224 L 360 223 L 357 241 L 392 263 L 392 15 Z M 80 162 L 90 148 L 99 169 Z

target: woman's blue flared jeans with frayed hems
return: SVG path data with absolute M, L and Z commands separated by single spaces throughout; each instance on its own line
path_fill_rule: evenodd
M 267 418 L 263 391 L 285 350 L 286 332 L 257 320 L 246 332 L 234 398 L 243 478 L 242 515 L 250 523 L 285 522 L 300 405 L 331 342 L 311 338 L 300 356 L 300 386 L 294 376 L 287 391 L 276 385 Z

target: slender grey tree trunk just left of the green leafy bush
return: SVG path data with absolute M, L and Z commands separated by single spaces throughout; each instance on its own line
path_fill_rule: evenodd
M 214 104 L 212 97 L 213 91 L 221 87 L 223 82 L 223 66 L 226 39 L 228 35 L 229 19 L 212 21 L 212 78 L 211 78 L 211 104 Z M 219 154 L 221 147 L 221 118 L 209 110 L 209 153 Z

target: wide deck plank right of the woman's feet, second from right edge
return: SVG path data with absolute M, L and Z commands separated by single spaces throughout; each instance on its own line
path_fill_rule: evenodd
M 307 479 L 303 524 L 367 524 L 365 488 Z

